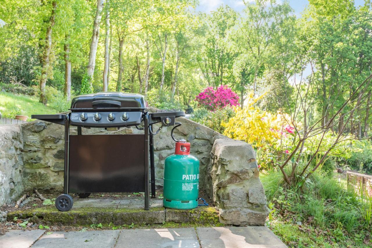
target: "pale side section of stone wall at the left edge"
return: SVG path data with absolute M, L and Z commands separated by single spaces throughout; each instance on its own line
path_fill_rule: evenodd
M 0 204 L 23 191 L 23 136 L 20 125 L 0 126 Z

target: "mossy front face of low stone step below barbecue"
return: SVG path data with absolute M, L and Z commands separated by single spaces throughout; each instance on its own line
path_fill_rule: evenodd
M 77 207 L 68 212 L 60 212 L 54 206 L 9 212 L 7 219 L 14 217 L 29 219 L 29 222 L 44 225 L 91 225 L 94 223 L 114 225 L 156 224 L 164 222 L 218 225 L 218 210 L 214 207 L 198 207 L 191 210 L 151 207 L 150 210 L 109 207 Z

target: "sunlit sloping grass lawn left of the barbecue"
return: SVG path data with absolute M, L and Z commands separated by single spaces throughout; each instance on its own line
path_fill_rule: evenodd
M 16 115 L 26 115 L 31 121 L 31 115 L 55 114 L 58 111 L 44 104 L 33 96 L 16 95 L 0 92 L 0 112 L 3 117 L 14 119 Z

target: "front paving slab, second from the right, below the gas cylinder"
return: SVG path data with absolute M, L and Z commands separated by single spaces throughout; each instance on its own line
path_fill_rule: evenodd
M 194 228 L 122 230 L 116 248 L 199 248 Z

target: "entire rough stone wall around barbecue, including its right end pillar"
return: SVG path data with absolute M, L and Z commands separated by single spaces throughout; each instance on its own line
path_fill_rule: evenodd
M 258 178 L 256 155 L 252 147 L 192 120 L 180 117 L 176 121 L 181 122 L 182 126 L 176 128 L 174 136 L 191 143 L 191 154 L 200 161 L 200 188 L 206 190 L 214 204 L 220 208 L 220 221 L 232 225 L 263 225 L 267 215 L 266 197 Z M 154 126 L 154 132 L 158 127 Z M 174 141 L 170 136 L 172 128 L 164 127 L 154 136 L 157 186 L 163 185 L 165 158 L 174 153 Z M 7 134 L 11 129 L 14 129 L 13 133 Z M 8 149 L 13 154 L 6 158 L 6 169 L 0 165 L 0 173 L 7 173 L 3 177 L 6 178 L 3 181 L 7 181 L 3 182 L 3 188 L 10 192 L 11 199 L 15 199 L 23 189 L 31 190 L 33 187 L 62 191 L 64 126 L 34 121 L 23 125 L 0 126 L 0 130 L 7 141 L 1 142 L 0 151 L 6 154 Z M 142 132 L 136 128 L 121 128 L 118 131 L 82 129 L 83 135 Z M 76 127 L 70 128 L 70 135 L 77 135 Z M 10 190 L 10 187 L 13 189 Z M 9 196 L 4 195 L 3 198 L 9 199 Z M 2 203 L 4 200 L 0 198 Z

